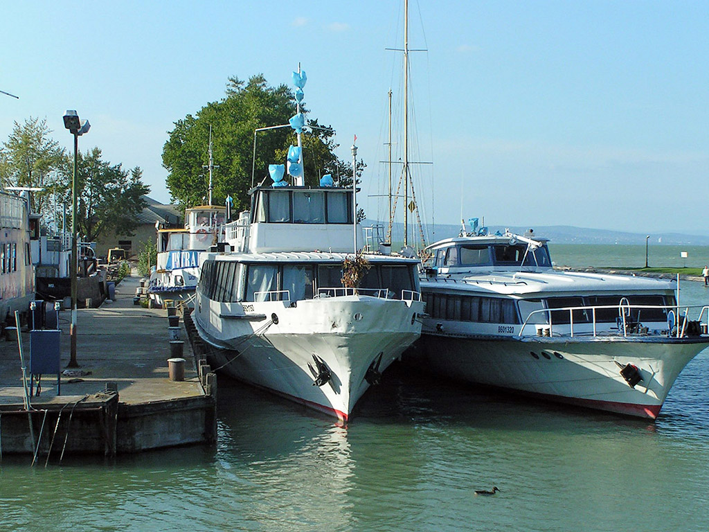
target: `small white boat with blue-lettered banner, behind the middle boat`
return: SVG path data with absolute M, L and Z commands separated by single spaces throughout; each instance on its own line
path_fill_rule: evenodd
M 184 228 L 157 228 L 157 265 L 152 267 L 148 297 L 156 306 L 189 301 L 199 279 L 199 254 L 224 240 L 225 207 L 186 209 Z

